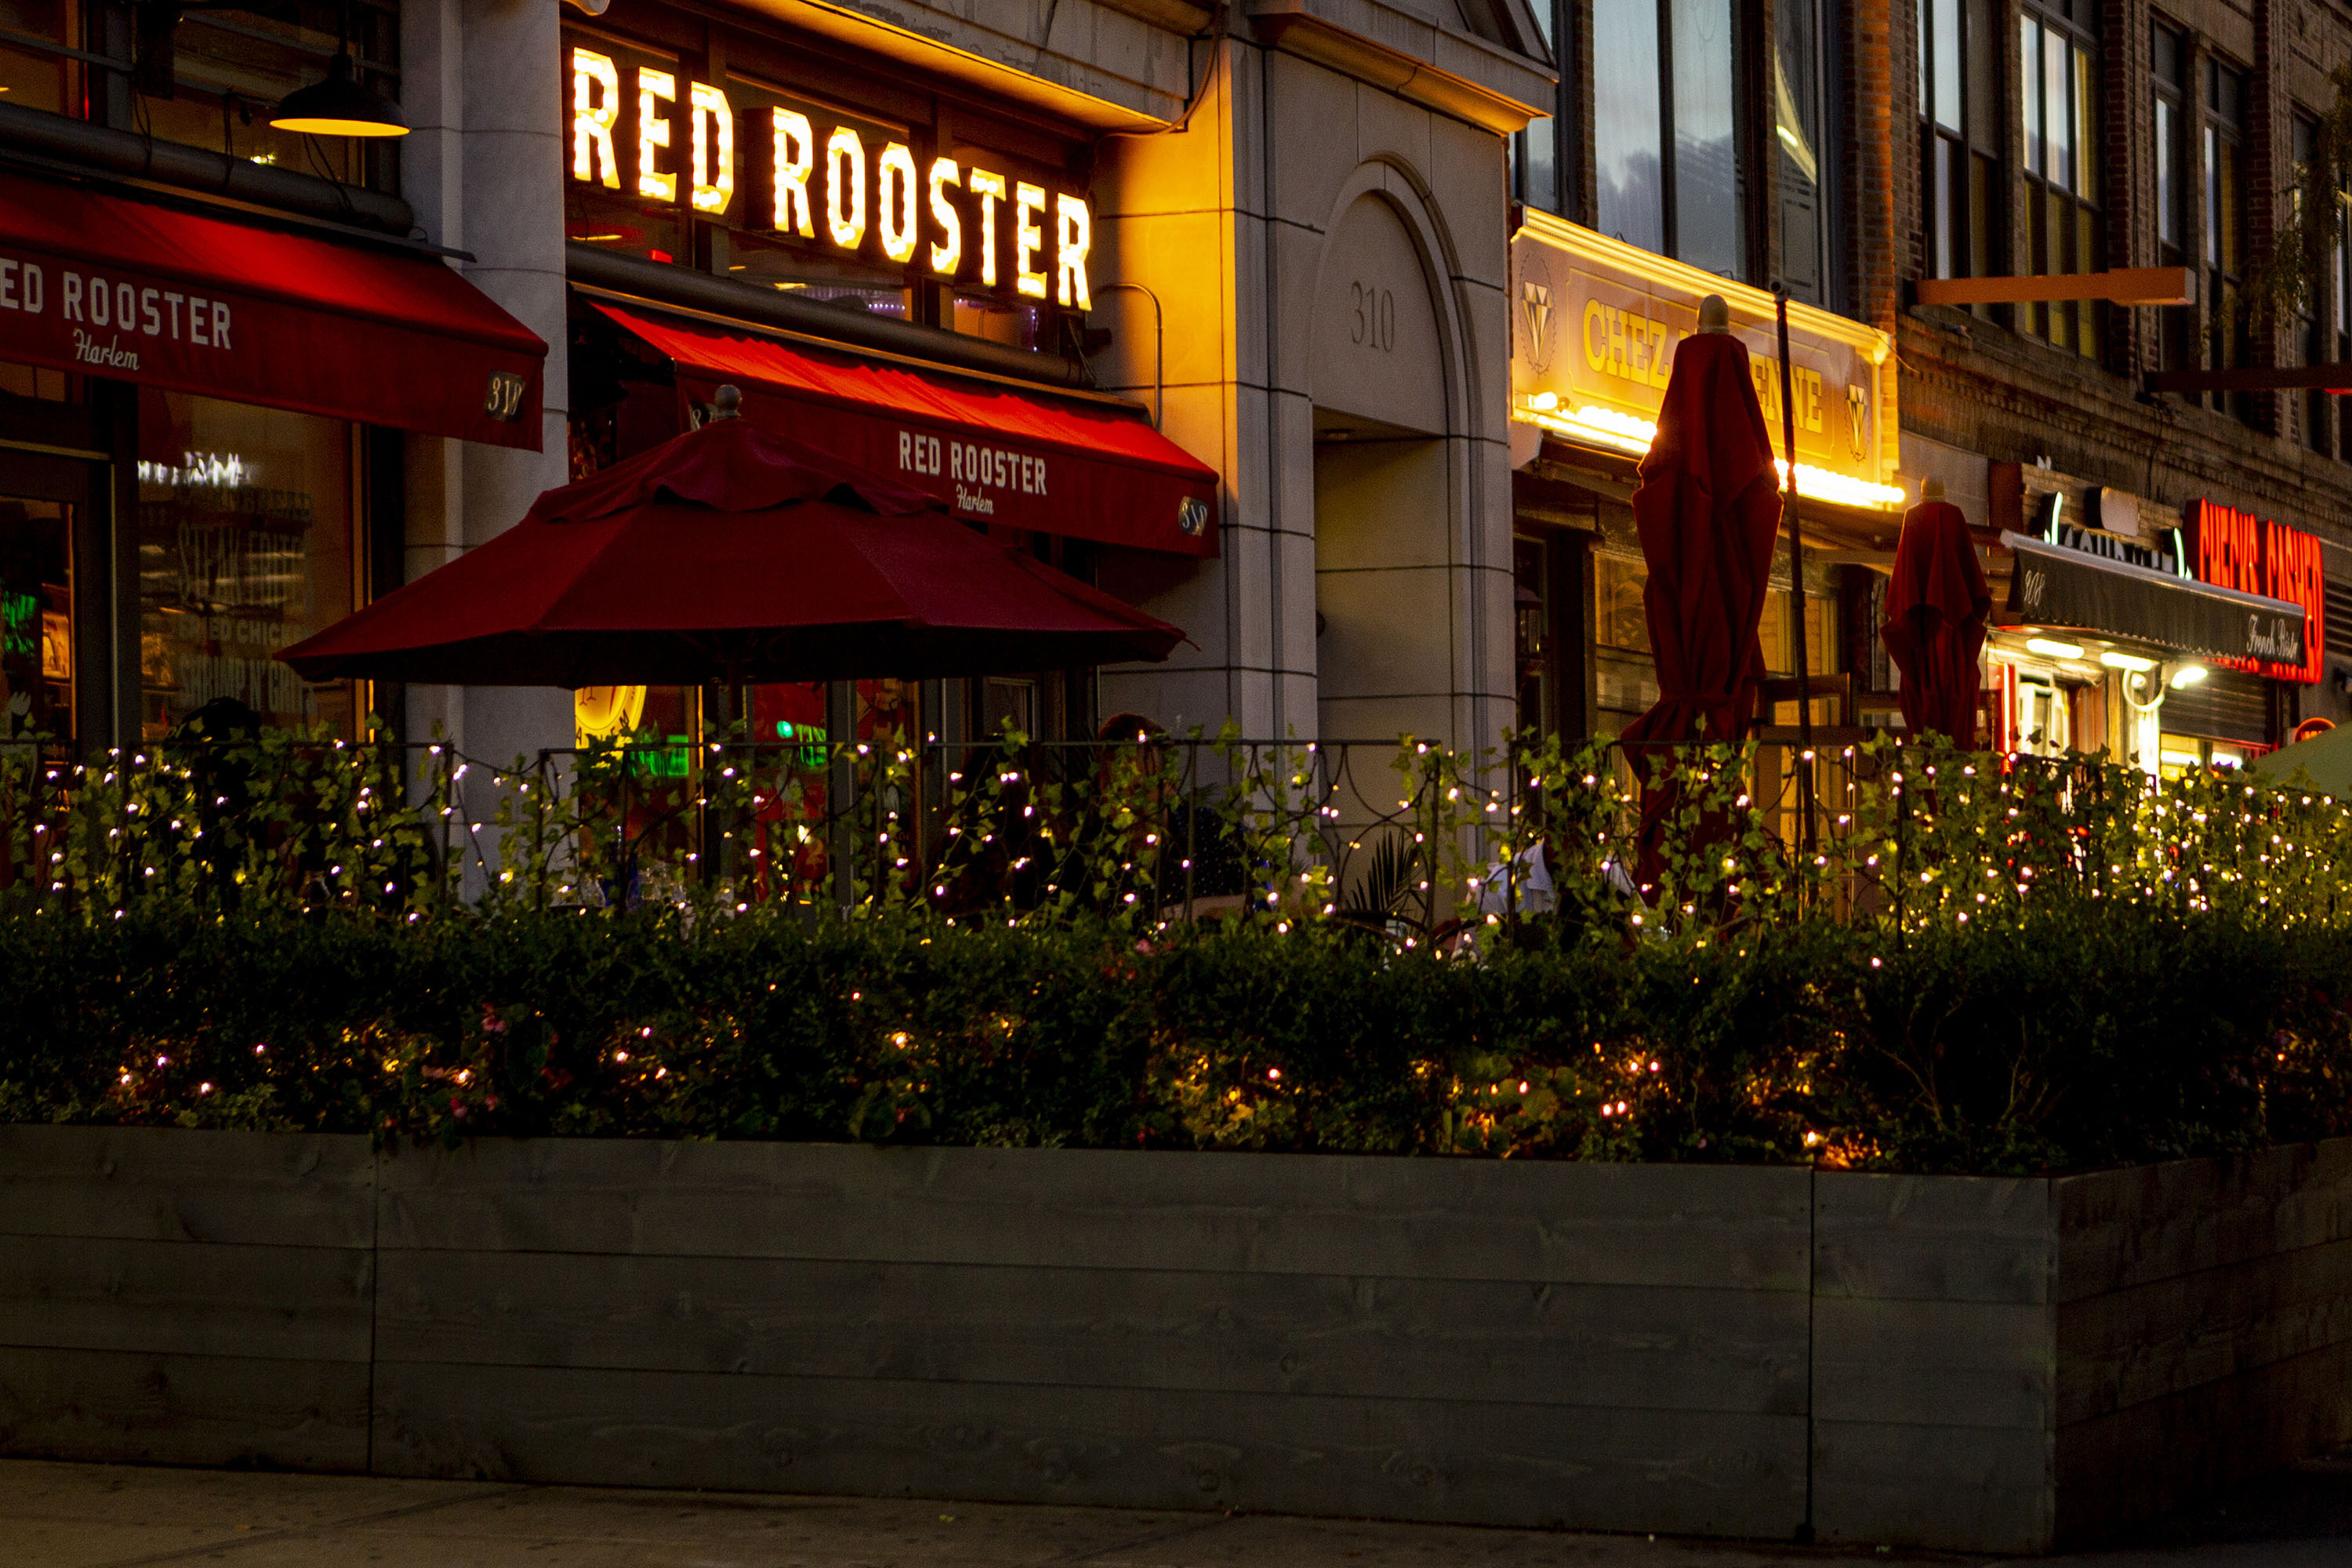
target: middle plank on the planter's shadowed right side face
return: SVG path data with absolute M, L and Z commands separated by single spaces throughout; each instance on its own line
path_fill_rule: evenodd
M 2067 1302 L 2058 1309 L 2058 1422 L 2129 1410 L 2345 1342 L 2352 1241 Z

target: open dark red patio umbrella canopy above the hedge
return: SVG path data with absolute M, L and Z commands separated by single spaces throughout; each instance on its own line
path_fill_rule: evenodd
M 1160 661 L 1183 639 L 920 491 L 720 418 L 280 654 L 306 679 L 694 686 Z

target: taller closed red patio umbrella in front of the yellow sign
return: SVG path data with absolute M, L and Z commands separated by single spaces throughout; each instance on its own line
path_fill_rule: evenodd
M 1649 583 L 1658 703 L 1621 741 L 1646 748 L 1738 741 L 1755 715 L 1764 649 L 1757 623 L 1780 531 L 1771 437 L 1748 346 L 1705 327 L 1675 348 L 1658 437 L 1632 494 Z M 1656 882 L 1672 788 L 1642 792 L 1642 882 Z

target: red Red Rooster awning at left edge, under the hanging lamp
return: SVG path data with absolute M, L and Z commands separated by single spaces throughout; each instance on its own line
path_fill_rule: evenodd
M 0 174 L 0 357 L 539 451 L 548 346 L 433 256 Z

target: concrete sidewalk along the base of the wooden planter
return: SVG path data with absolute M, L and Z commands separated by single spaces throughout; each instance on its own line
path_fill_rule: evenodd
M 586 1486 L 0 1460 L 7 1568 L 1790 1568 L 1973 1563 L 1879 1552 Z M 2352 1453 L 2056 1559 L 2084 1568 L 2352 1568 Z

